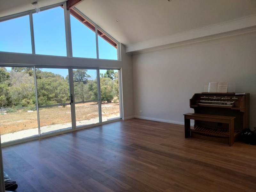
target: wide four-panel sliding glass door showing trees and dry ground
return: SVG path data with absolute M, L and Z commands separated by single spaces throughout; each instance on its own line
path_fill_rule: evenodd
M 0 67 L 1 141 L 120 119 L 119 69 Z

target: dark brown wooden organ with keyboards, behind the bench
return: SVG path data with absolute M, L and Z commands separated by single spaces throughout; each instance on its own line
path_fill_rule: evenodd
M 228 116 L 235 117 L 234 131 L 232 131 L 232 134 L 234 132 L 234 140 L 237 140 L 241 131 L 243 129 L 249 128 L 249 102 L 249 93 L 242 95 L 235 95 L 235 93 L 194 94 L 194 96 L 190 99 L 190 108 L 194 109 L 194 116 L 197 115 L 201 117 L 189 118 L 196 119 L 194 123 L 194 129 L 189 130 L 191 131 L 190 136 L 227 143 L 227 138 L 231 134 L 230 124 L 220 123 L 217 120 L 214 120 L 215 122 L 211 122 L 209 118 L 211 119 L 214 117 L 216 119 L 216 116 L 223 116 L 223 118 L 224 116 Z M 222 118 L 220 117 L 219 119 L 221 120 Z M 230 146 L 231 145 L 232 144 L 230 144 Z

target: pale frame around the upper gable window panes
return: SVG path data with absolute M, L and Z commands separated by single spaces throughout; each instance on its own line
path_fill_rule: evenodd
M 61 6 L 61 5 L 63 5 L 63 6 Z M 53 4 L 53 5 L 42 7 L 42 8 L 40 8 L 40 11 L 45 11 L 47 9 L 52 9 L 52 8 L 59 7 L 59 6 L 61 6 L 64 9 L 64 22 L 65 22 L 65 32 L 66 32 L 67 56 L 56 56 L 56 57 L 71 57 L 71 58 L 73 58 L 73 54 L 72 54 L 72 40 L 71 40 L 71 25 L 70 25 L 70 14 L 71 13 L 70 13 L 69 10 L 67 10 L 66 2 L 61 2 L 61 3 L 57 3 L 57 4 Z M 80 14 L 84 19 L 88 20 L 91 24 L 95 25 L 97 60 L 109 60 L 109 59 L 99 59 L 99 46 L 98 46 L 98 29 L 99 29 L 108 38 L 110 38 L 112 41 L 114 41 L 116 43 L 116 46 L 117 46 L 117 60 L 121 61 L 120 43 L 118 41 L 116 41 L 112 36 L 110 36 L 107 32 L 105 32 L 102 28 L 100 28 L 96 23 L 94 23 L 92 20 L 90 20 L 88 17 L 86 17 L 76 7 L 73 7 L 72 9 L 75 10 L 78 14 Z M 4 17 L 0 18 L 0 22 L 2 22 L 2 21 L 6 21 L 6 20 L 15 19 L 15 18 L 18 18 L 18 17 L 21 17 L 21 16 L 29 15 L 32 53 L 18 53 L 18 54 L 42 55 L 42 54 L 36 54 L 35 53 L 33 13 L 36 13 L 35 9 L 29 10 L 29 11 L 25 11 L 25 12 L 21 12 L 21 13 L 16 13 L 16 14 L 13 14 L 13 15 L 4 16 Z M 111 43 L 109 43 L 109 44 L 111 44 Z M 3 52 L 3 51 L 0 51 L 0 52 Z M 4 52 L 4 53 L 14 53 L 15 54 L 17 52 Z M 45 55 L 45 56 L 55 56 L 55 55 Z M 77 58 L 77 57 L 75 57 L 75 58 Z

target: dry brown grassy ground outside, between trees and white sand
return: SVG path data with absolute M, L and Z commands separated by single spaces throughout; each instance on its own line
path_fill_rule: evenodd
M 94 102 L 75 105 L 76 121 L 90 120 L 99 117 L 98 104 Z M 118 117 L 120 115 L 119 103 L 102 104 L 102 116 Z M 66 107 L 49 107 L 39 109 L 40 127 L 65 124 L 71 122 L 70 105 Z M 7 113 L 0 115 L 1 135 L 37 128 L 37 112 Z

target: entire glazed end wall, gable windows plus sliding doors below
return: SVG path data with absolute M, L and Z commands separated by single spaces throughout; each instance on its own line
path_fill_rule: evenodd
M 0 52 L 120 60 L 119 43 L 76 8 L 40 9 L 0 18 Z M 2 142 L 122 117 L 119 69 L 22 65 L 0 64 Z

